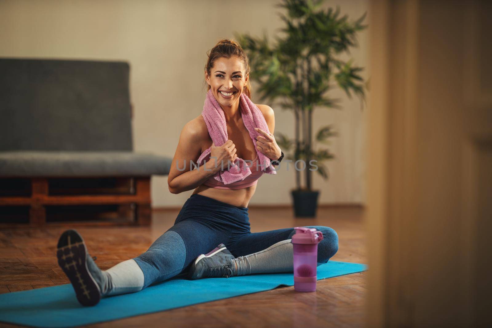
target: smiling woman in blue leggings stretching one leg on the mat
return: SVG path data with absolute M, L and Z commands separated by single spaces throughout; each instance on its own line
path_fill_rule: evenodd
M 81 304 L 95 305 L 101 297 L 137 292 L 180 273 L 186 273 L 189 279 L 199 279 L 293 272 L 290 242 L 295 233 L 293 228 L 260 233 L 251 233 L 249 229 L 247 206 L 257 180 L 264 173 L 258 165 L 258 151 L 271 160 L 281 155 L 273 136 L 274 111 L 267 105 L 256 105 L 270 133 L 258 130 L 262 136 L 256 138 L 255 149 L 243 122 L 239 101 L 242 93 L 250 98 L 249 60 L 245 52 L 235 41 L 223 39 L 208 57 L 205 81 L 208 92 L 212 92 L 224 112 L 229 140 L 215 146 L 201 115 L 184 125 L 168 184 L 173 194 L 194 191 L 174 226 L 145 253 L 102 271 L 75 230 L 62 234 L 58 242 L 58 262 Z M 200 154 L 209 147 L 211 157 L 215 156 L 216 160 L 190 170 L 190 161 L 197 163 Z M 238 157 L 252 161 L 248 177 L 230 184 L 213 178 L 221 170 L 217 163 L 234 163 Z M 321 265 L 337 252 L 338 236 L 328 227 L 312 228 L 321 231 L 324 237 L 318 244 L 318 265 Z

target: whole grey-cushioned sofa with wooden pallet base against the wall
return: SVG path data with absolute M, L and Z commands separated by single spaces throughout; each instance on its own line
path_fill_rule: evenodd
M 169 174 L 172 158 L 133 151 L 128 86 L 127 62 L 0 58 L 0 214 L 29 207 L 29 222 L 44 224 L 48 206 L 116 204 L 150 224 L 150 178 Z M 105 178 L 127 192 L 50 190 Z

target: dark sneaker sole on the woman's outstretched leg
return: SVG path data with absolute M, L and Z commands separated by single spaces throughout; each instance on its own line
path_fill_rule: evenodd
M 65 272 L 77 296 L 84 306 L 93 306 L 101 299 L 101 290 L 87 267 L 87 247 L 75 230 L 66 230 L 57 245 L 58 265 Z

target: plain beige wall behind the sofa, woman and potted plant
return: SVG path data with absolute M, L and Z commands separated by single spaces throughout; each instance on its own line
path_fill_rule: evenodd
M 206 52 L 220 37 L 234 31 L 275 35 L 283 22 L 278 1 L 1 1 L 0 56 L 52 59 L 126 60 L 130 63 L 130 93 L 134 105 L 133 140 L 137 151 L 173 156 L 184 124 L 200 115 L 206 89 Z M 355 19 L 368 9 L 367 1 L 326 1 L 339 5 Z M 352 57 L 367 67 L 367 31 L 359 34 L 360 48 Z M 367 74 L 365 74 L 367 77 Z M 253 85 L 253 88 L 255 86 Z M 330 146 L 331 178 L 318 174 L 314 188 L 320 204 L 365 202 L 365 140 L 367 108 L 345 99 L 342 111 L 318 109 L 314 129 L 333 123 L 339 131 Z M 258 103 L 254 96 L 253 101 Z M 269 104 L 271 105 L 271 104 Z M 293 115 L 272 106 L 276 131 L 293 134 Z M 265 175 L 250 205 L 290 204 L 294 172 Z M 277 190 L 280 190 L 278 192 Z M 154 206 L 181 206 L 191 190 L 173 195 L 167 177 L 154 177 Z

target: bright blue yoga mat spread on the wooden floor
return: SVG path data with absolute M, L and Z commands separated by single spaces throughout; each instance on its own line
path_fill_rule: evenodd
M 318 280 L 362 272 L 366 266 L 330 261 L 317 269 Z M 0 321 L 32 327 L 76 327 L 177 307 L 293 286 L 292 273 L 250 274 L 230 278 L 173 278 L 143 291 L 108 298 L 84 307 L 70 284 L 0 295 Z

